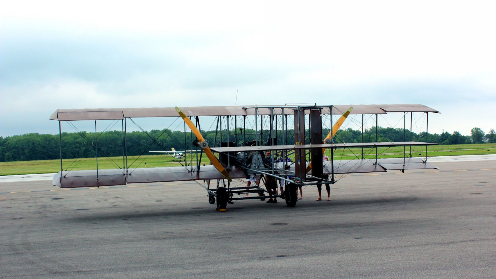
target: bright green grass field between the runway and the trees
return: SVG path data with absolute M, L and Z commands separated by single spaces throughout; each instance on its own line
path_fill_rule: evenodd
M 425 152 L 425 146 L 412 146 L 412 157 L 423 157 L 426 155 Z M 329 149 L 326 150 L 325 153 L 326 155 L 330 156 Z M 403 146 L 377 148 L 377 153 L 379 158 L 403 157 Z M 405 153 L 407 156 L 410 155 L 410 146 L 406 147 Z M 434 145 L 429 146 L 428 148 L 428 156 L 480 154 L 496 154 L 496 143 Z M 336 149 L 336 151 L 334 152 L 334 159 L 356 159 L 361 158 L 361 155 L 362 148 Z M 364 155 L 364 157 L 367 159 L 374 158 L 375 148 L 364 148 Z M 196 155 L 193 156 L 193 163 L 196 163 Z M 190 157 L 188 157 L 187 159 L 189 160 Z M 206 156 L 202 156 L 201 162 L 203 164 L 208 164 L 209 160 Z M 97 161 L 95 158 L 63 159 L 62 163 L 64 170 L 87 170 L 96 169 Z M 183 162 L 183 165 L 184 164 L 185 163 Z M 123 168 L 123 165 L 123 157 L 98 158 L 99 169 Z M 128 156 L 127 165 L 129 166 L 129 168 L 181 166 L 179 162 L 173 161 L 172 157 L 164 155 Z M 60 159 L 0 162 L 0 175 L 54 173 L 59 172 L 60 170 Z

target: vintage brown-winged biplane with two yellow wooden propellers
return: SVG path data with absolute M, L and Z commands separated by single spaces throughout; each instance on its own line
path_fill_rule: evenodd
M 400 115 L 398 123 L 403 122 L 402 141 L 378 138 L 378 117 L 392 113 Z M 76 188 L 195 181 L 205 188 L 209 203 L 216 204 L 220 211 L 225 211 L 227 204 L 238 200 L 263 201 L 266 198 L 282 198 L 288 207 L 295 207 L 300 186 L 334 184 L 350 173 L 436 168 L 427 162 L 428 146 L 436 144 L 428 142 L 429 113 L 439 112 L 420 104 L 59 109 L 50 117 L 59 121 L 61 143 L 61 171 L 54 176 L 53 185 Z M 420 119 L 414 115 L 418 114 L 423 119 L 422 125 L 425 124 L 425 141 L 412 140 L 412 128 Z M 199 156 L 196 155 L 196 159 L 194 156 L 189 156 L 189 159 L 181 157 L 179 159 L 184 164 L 174 167 L 137 168 L 128 165 L 127 121 L 149 117 L 181 120 L 184 123 L 185 150 L 190 138 L 188 144 L 199 151 Z M 202 135 L 200 118 L 213 119 L 213 124 L 216 123 L 213 142 Z M 410 120 L 410 137 L 407 135 L 407 118 Z M 88 120 L 95 122 L 95 134 L 97 121 L 122 123 L 121 166 L 116 164 L 118 167 L 115 169 L 98 169 L 97 161 L 95 170 L 64 170 L 61 122 Z M 346 121 L 361 128 L 361 142 L 336 140 Z M 369 132 L 366 138 L 364 128 Z M 370 135 L 374 128 L 375 135 Z M 166 151 L 157 139 L 152 140 Z M 98 160 L 98 145 L 93 141 L 91 144 L 95 146 Z M 425 146 L 425 157 L 412 156 L 412 147 L 422 146 Z M 403 156 L 380 158 L 379 148 L 399 148 Z M 337 155 L 344 149 L 350 150 L 351 158 L 343 159 Z M 209 165 L 201 163 L 203 154 L 210 160 Z M 328 161 L 322 160 L 325 154 L 329 155 Z M 245 181 L 253 177 L 262 180 L 266 188 L 258 183 L 248 187 Z M 212 181 L 215 183 L 211 187 Z M 281 191 L 277 189 L 277 182 Z

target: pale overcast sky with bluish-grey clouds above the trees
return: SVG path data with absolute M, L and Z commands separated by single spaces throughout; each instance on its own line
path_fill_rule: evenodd
M 59 108 L 237 90 L 238 105 L 420 103 L 442 112 L 431 133 L 496 129 L 492 2 L 73 2 L 0 5 L 0 136 L 56 134 Z

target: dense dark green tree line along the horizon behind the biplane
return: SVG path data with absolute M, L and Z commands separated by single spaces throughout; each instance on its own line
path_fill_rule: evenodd
M 322 131 L 323 137 L 329 130 Z M 210 142 L 210 146 L 221 140 L 221 133 L 215 131 L 202 131 L 204 138 Z M 236 131 L 229 131 L 229 140 L 236 141 L 237 145 L 242 145 L 244 140 L 254 140 L 255 131 L 246 131 L 238 128 Z M 263 144 L 270 143 L 269 131 L 258 131 L 258 139 L 262 139 Z M 228 131 L 222 131 L 222 141 L 227 141 Z M 427 138 L 426 138 L 427 137 Z M 294 131 L 277 131 L 272 135 L 277 144 L 293 144 Z M 286 142 L 284 139 L 286 138 Z M 307 131 L 307 138 L 308 131 Z M 452 134 L 445 132 L 442 134 L 420 134 L 411 133 L 409 130 L 377 127 L 377 139 L 375 127 L 362 131 L 351 128 L 339 130 L 334 137 L 335 142 L 384 142 L 384 141 L 429 141 L 439 144 L 464 144 L 482 143 L 488 141 L 494 143 L 495 130 L 491 129 L 488 134 L 480 128 L 473 128 L 471 136 L 463 136 L 455 131 Z M 123 142 L 126 141 L 126 150 L 123 150 Z M 88 158 L 95 157 L 98 152 L 99 157 L 149 154 L 148 151 L 195 149 L 192 145 L 194 135 L 181 131 L 171 131 L 168 129 L 151 130 L 149 132 L 130 132 L 123 136 L 122 131 L 108 131 L 104 133 L 62 133 L 62 147 L 59 145 L 59 135 L 30 133 L 12 137 L 0 137 L 0 161 L 25 161 L 25 160 L 47 160 L 60 158 L 60 148 L 62 148 L 62 158 Z

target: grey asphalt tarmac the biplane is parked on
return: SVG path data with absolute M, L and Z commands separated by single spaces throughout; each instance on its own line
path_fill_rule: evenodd
M 193 182 L 3 182 L 0 277 L 494 279 L 496 160 L 435 165 L 342 177 L 330 202 L 306 187 L 295 208 L 227 212 Z

